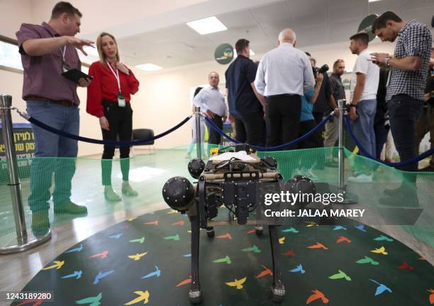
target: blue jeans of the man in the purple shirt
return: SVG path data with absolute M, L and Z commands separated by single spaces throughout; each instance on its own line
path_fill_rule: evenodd
M 79 108 L 63 106 L 52 102 L 28 100 L 27 112 L 38 121 L 60 131 L 78 135 Z M 35 159 L 30 168 L 30 197 L 28 204 L 32 212 L 50 208 L 50 187 L 54 172 L 55 190 L 53 202 L 56 205 L 69 202 L 71 180 L 75 173 L 77 141 L 58 136 L 32 124 L 35 136 Z

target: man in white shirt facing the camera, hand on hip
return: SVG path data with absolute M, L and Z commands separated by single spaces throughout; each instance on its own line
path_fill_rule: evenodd
M 228 117 L 228 109 L 225 103 L 225 97 L 218 89 L 218 82 L 220 82 L 220 77 L 218 77 L 217 72 L 210 72 L 208 75 L 209 86 L 204 87 L 199 94 L 193 99 L 193 103 L 196 106 L 200 106 L 201 111 L 203 111 L 208 119 L 213 121 L 213 124 L 218 126 L 218 129 L 223 130 L 223 122 L 226 121 Z M 208 126 L 208 143 L 220 144 L 221 135 L 217 133 L 212 126 Z

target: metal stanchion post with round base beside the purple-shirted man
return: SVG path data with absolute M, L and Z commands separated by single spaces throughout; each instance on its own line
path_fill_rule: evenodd
M 18 163 L 16 161 L 15 143 L 13 141 L 13 124 L 11 117 L 12 97 L 1 94 L 0 115 L 3 131 L 3 140 L 8 164 L 9 187 L 11 190 L 13 217 L 16 226 L 16 244 L 13 241 L 9 246 L 0 248 L 0 254 L 16 253 L 26 251 L 29 248 L 43 244 L 51 238 L 51 231 L 38 239 L 29 239 L 26 219 L 24 217 L 23 198 L 21 196 L 21 183 L 18 174 Z

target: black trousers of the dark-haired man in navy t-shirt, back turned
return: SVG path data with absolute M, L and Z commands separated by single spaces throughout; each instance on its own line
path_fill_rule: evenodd
M 235 118 L 235 134 L 238 141 L 253 146 L 264 146 L 262 143 L 264 115 L 262 111 L 244 114 L 240 119 Z

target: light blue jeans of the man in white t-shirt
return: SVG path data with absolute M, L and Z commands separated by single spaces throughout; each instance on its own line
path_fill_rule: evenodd
M 377 111 L 377 100 L 362 100 L 357 104 L 359 118 L 352 121 L 352 130 L 362 147 L 372 156 L 375 152 L 374 118 Z M 360 153 L 360 155 L 363 155 Z

